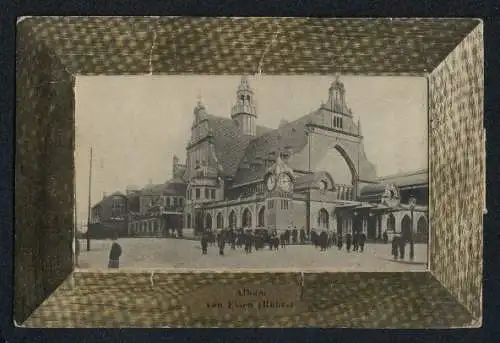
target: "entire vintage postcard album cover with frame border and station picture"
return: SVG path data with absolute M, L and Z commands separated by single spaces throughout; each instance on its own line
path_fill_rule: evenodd
M 480 326 L 482 34 L 23 19 L 16 323 Z

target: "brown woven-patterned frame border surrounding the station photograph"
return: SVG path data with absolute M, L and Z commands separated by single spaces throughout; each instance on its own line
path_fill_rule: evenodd
M 482 30 L 475 19 L 23 18 L 16 54 L 15 321 L 26 327 L 480 326 Z M 74 76 L 258 72 L 428 77 L 430 272 L 73 273 Z M 298 280 L 307 305 L 299 314 L 214 319 L 181 303 L 209 284 L 299 287 Z

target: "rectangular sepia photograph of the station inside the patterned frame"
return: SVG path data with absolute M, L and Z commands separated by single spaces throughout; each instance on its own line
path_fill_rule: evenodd
M 76 267 L 428 270 L 427 79 L 82 76 Z

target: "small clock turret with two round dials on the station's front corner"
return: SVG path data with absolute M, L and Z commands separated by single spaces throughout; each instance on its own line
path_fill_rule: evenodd
M 266 175 L 266 213 L 268 226 L 277 231 L 292 227 L 294 173 L 280 156 Z

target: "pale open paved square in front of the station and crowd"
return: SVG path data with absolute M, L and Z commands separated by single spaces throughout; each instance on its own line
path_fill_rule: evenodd
M 248 270 L 303 270 L 303 271 L 423 271 L 426 270 L 427 246 L 415 246 L 415 260 L 394 261 L 390 244 L 372 243 L 365 252 L 347 253 L 331 248 L 326 252 L 311 245 L 291 245 L 279 251 L 268 248 L 246 254 L 243 249 L 225 249 L 219 256 L 218 248 L 208 247 L 201 254 L 199 241 L 173 238 L 121 238 L 123 249 L 120 269 L 248 269 Z M 107 269 L 111 240 L 92 240 L 91 251 L 86 251 L 85 240 L 80 241 L 80 269 Z M 409 252 L 407 246 L 406 253 Z

